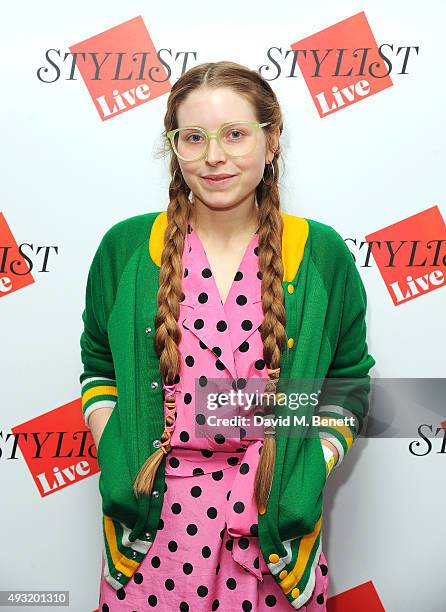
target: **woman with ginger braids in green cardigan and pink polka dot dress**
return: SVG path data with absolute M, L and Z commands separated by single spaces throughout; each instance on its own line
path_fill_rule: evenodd
M 164 123 L 167 211 L 113 226 L 87 282 L 99 609 L 325 610 L 323 487 L 357 435 L 375 363 L 365 291 L 335 230 L 280 211 L 282 116 L 257 72 L 196 66 L 172 87 Z M 350 427 L 210 427 L 209 394 L 263 382 L 276 397 L 282 375 L 365 380 L 349 407 L 336 396 L 319 411 Z

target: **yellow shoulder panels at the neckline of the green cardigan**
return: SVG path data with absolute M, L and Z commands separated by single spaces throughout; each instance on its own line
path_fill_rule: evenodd
M 283 282 L 291 282 L 297 274 L 308 238 L 309 225 L 305 217 L 297 217 L 279 211 L 283 220 L 282 262 Z M 167 212 L 160 212 L 152 225 L 149 238 L 149 254 L 156 266 L 161 267 L 164 248 L 164 232 L 167 227 Z

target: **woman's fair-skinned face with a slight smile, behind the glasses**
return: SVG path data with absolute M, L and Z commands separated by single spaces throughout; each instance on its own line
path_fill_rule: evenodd
M 177 112 L 178 127 L 199 126 L 216 132 L 222 123 L 257 121 L 248 100 L 229 88 L 201 87 L 191 92 L 180 104 Z M 253 205 L 255 190 L 262 180 L 265 163 L 273 158 L 266 143 L 265 128 L 257 132 L 254 150 L 242 157 L 231 157 L 211 138 L 206 157 L 185 162 L 178 159 L 184 180 L 192 190 L 194 201 L 211 208 L 232 208 L 242 203 Z M 275 143 L 273 147 L 275 148 Z M 203 177 L 209 174 L 234 175 L 222 184 L 209 183 Z

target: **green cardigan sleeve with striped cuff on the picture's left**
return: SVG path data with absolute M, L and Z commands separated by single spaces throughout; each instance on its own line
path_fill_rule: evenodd
M 80 338 L 83 371 L 81 383 L 82 413 L 88 427 L 89 418 L 98 408 L 114 408 L 117 388 L 113 358 L 107 334 L 104 308 L 103 241 L 90 265 L 82 313 L 84 329 Z

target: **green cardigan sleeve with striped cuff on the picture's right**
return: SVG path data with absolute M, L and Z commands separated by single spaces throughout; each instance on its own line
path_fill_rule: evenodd
M 341 319 L 333 357 L 317 414 L 320 417 L 342 419 L 346 424 L 320 424 L 319 436 L 332 442 L 339 459 L 336 466 L 355 441 L 369 409 L 369 370 L 376 361 L 367 345 L 367 295 L 360 273 L 344 243 L 347 272 L 341 306 Z M 348 252 L 348 254 L 347 254 Z

